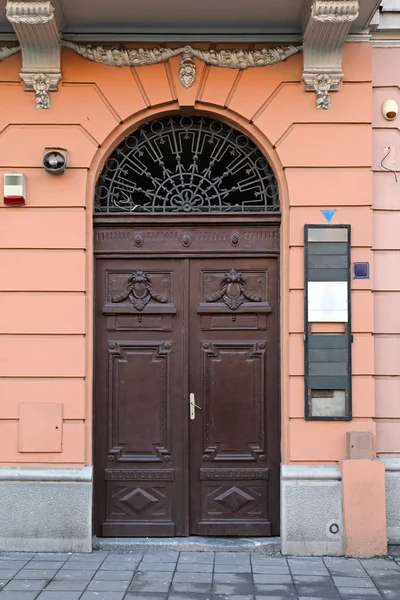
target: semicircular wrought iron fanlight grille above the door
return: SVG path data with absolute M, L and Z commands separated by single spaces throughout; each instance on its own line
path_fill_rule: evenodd
M 265 212 L 279 210 L 266 158 L 241 132 L 205 117 L 144 125 L 111 154 L 95 212 Z

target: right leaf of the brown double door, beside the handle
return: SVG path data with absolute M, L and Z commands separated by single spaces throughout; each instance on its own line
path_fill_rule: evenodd
M 189 296 L 189 381 L 199 407 L 190 423 L 191 533 L 271 535 L 277 260 L 192 260 Z

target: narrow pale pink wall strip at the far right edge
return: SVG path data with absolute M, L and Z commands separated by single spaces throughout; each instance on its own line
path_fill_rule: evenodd
M 389 63 L 390 58 L 390 63 Z M 385 100 L 400 105 L 400 48 L 373 49 L 374 302 L 377 451 L 400 455 L 400 183 L 383 166 L 400 171 L 400 120 L 387 121 Z

